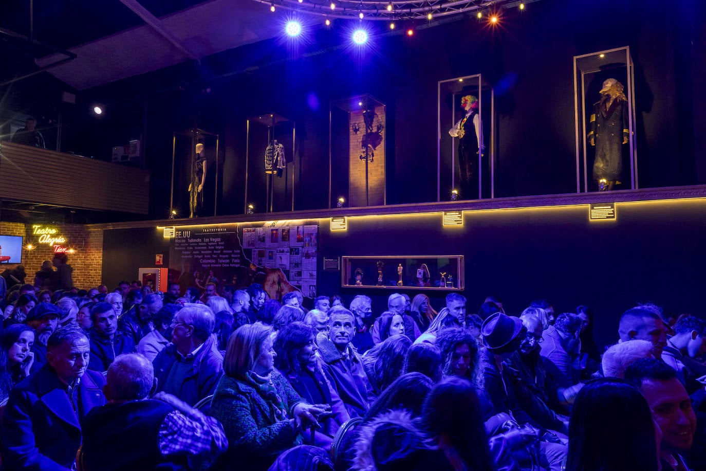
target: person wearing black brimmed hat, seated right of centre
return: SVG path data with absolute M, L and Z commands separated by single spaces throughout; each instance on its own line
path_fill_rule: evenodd
M 517 401 L 515 388 L 507 363 L 527 337 L 527 328 L 520 318 L 496 312 L 486 318 L 481 326 L 484 349 L 484 381 L 486 392 L 493 403 L 494 412 L 510 414 L 518 424 L 525 424 L 537 431 L 540 465 L 549 470 L 560 470 L 566 456 L 566 446 L 553 431 L 538 427 Z M 551 443 L 547 443 L 551 442 Z

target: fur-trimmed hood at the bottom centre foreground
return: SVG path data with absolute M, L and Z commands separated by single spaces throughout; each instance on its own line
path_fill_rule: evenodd
M 381 459 L 385 467 L 390 467 L 393 461 L 409 459 L 412 454 L 424 451 L 433 452 L 436 447 L 417 428 L 409 412 L 393 410 L 359 428 L 352 469 L 378 471 Z

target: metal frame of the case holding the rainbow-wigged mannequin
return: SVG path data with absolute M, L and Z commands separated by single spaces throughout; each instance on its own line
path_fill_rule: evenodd
M 441 126 L 441 89 L 442 86 L 447 88 L 447 91 L 453 95 L 458 95 L 463 93 L 464 87 L 467 87 L 472 81 L 478 82 L 478 115 L 481 119 L 481 123 L 486 122 L 483 115 L 483 90 L 490 90 L 490 197 L 495 198 L 495 90 L 493 87 L 483 80 L 481 73 L 477 73 L 471 76 L 463 76 L 456 78 L 449 78 L 447 80 L 438 81 L 437 84 L 437 102 L 436 102 L 436 114 L 437 114 L 437 136 L 436 136 L 436 201 L 441 201 L 441 138 L 443 136 L 448 136 L 448 133 L 442 132 L 444 129 Z M 459 92 L 453 91 L 450 85 L 456 83 L 459 86 Z M 462 84 L 462 85 L 461 85 Z M 450 124 L 453 126 L 456 119 L 456 100 L 453 100 L 452 105 L 452 116 L 454 121 Z M 455 138 L 451 138 L 455 139 Z M 484 136 L 478 136 L 479 147 L 484 145 Z M 478 153 L 478 199 L 483 198 L 483 156 L 482 153 Z M 451 186 L 455 188 L 455 172 L 456 172 L 456 147 L 451 146 Z

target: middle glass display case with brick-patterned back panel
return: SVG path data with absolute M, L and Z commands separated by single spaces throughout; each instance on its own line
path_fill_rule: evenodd
M 331 102 L 329 109 L 328 207 L 387 203 L 385 104 L 371 95 Z

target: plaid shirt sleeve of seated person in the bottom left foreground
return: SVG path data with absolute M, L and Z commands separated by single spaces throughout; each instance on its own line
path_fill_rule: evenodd
M 160 451 L 163 456 L 177 453 L 217 455 L 226 448 L 228 441 L 217 419 L 207 415 L 201 415 L 201 419 L 191 419 L 178 410 L 164 417 L 160 427 Z

